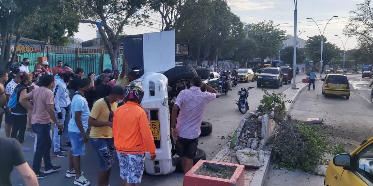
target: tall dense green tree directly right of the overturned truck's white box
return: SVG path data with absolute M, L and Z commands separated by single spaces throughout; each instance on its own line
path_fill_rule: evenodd
M 214 59 L 220 48 L 239 34 L 242 23 L 224 0 L 187 0 L 179 17 L 177 41 L 189 45 L 198 64 Z

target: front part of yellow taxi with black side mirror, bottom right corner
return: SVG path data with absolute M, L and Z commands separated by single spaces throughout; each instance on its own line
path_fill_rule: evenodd
M 324 186 L 373 185 L 373 137 L 350 154 L 337 154 L 325 173 Z

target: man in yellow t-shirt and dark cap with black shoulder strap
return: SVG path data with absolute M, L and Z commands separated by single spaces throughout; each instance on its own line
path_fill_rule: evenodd
M 92 126 L 90 137 L 93 148 L 100 161 L 98 171 L 98 186 L 109 185 L 110 169 L 114 163 L 115 147 L 113 140 L 113 116 L 118 103 L 123 101 L 123 87 L 112 87 L 107 97 L 98 99 L 92 107 L 88 125 Z M 110 109 L 109 109 L 110 106 Z

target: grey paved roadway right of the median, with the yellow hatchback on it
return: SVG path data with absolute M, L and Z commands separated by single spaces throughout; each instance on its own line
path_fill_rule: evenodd
M 322 81 L 316 81 L 316 90 L 303 90 L 295 101 L 291 115 L 294 119 L 323 118 L 325 133 L 335 141 L 345 144 L 347 150 L 353 150 L 361 141 L 373 136 L 370 132 L 373 121 L 373 103 L 370 102 L 369 87 L 372 79 L 361 78 L 361 75 L 348 75 L 351 96 L 322 95 Z M 351 145 L 347 145 L 350 143 Z M 323 166 L 325 167 L 325 166 Z M 301 171 L 274 170 L 268 171 L 265 186 L 322 186 L 324 177 L 306 174 Z

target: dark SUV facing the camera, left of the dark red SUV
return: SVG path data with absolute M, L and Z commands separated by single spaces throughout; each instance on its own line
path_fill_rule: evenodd
M 261 74 L 258 76 L 257 87 L 262 85 L 272 85 L 276 88 L 282 87 L 283 74 L 278 67 L 267 67 L 264 68 Z

